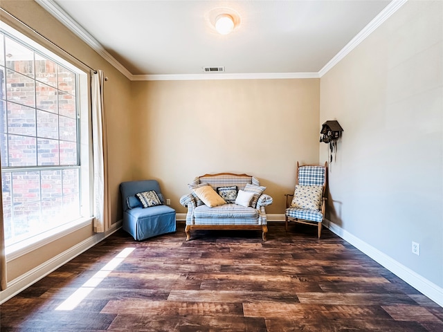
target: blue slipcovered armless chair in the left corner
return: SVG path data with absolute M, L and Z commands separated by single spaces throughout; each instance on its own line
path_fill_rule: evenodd
M 136 195 L 151 190 L 154 190 L 161 205 L 144 208 Z M 177 230 L 175 210 L 163 205 L 164 198 L 156 180 L 123 182 L 120 184 L 120 192 L 123 199 L 123 230 L 136 241 Z

